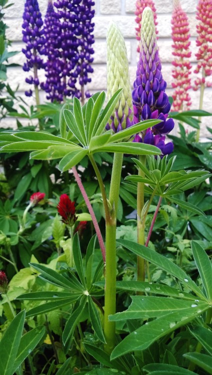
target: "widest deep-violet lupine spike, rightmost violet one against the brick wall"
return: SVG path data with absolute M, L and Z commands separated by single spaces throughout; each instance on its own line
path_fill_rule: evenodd
M 84 85 L 91 81 L 88 77 L 93 72 L 91 62 L 94 53 L 91 44 L 94 43 L 92 18 L 94 10 L 92 0 L 57 0 L 54 6 L 57 8 L 57 16 L 61 24 L 60 33 L 60 58 L 58 72 L 65 85 L 63 95 L 84 96 Z M 77 84 L 81 89 L 77 88 Z M 85 95 L 87 93 L 85 92 Z

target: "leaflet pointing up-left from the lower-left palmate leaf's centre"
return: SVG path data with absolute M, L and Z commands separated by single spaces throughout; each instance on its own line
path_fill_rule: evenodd
M 48 282 L 63 287 L 64 289 L 71 290 L 72 292 L 81 292 L 83 291 L 83 286 L 73 275 L 70 275 L 69 278 L 64 277 L 59 272 L 54 271 L 51 268 L 45 267 L 42 264 L 29 263 L 33 268 L 41 273 L 41 277 Z

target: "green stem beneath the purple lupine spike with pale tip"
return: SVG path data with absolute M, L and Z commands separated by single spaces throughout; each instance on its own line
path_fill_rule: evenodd
M 139 161 L 142 164 L 146 162 L 146 156 L 140 155 Z M 144 177 L 144 172 L 138 168 L 138 175 Z M 145 222 L 141 220 L 141 212 L 144 206 L 144 183 L 138 182 L 137 184 L 137 243 L 144 245 L 144 229 L 145 229 Z M 145 280 L 145 260 L 140 256 L 137 256 L 137 280 L 144 281 Z

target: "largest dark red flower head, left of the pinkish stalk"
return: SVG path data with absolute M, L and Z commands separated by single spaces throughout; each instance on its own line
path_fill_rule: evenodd
M 67 194 L 60 195 L 59 203 L 56 206 L 58 214 L 62 217 L 62 222 L 72 226 L 76 221 L 74 202 L 71 202 Z

